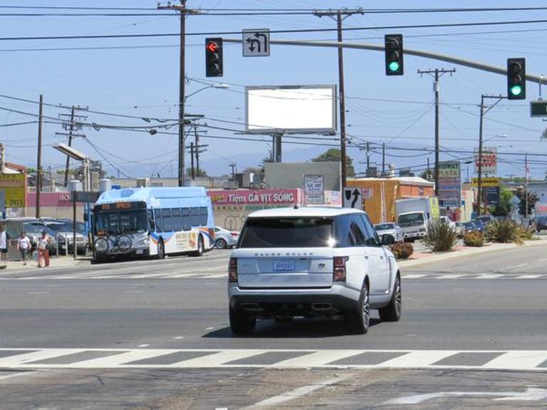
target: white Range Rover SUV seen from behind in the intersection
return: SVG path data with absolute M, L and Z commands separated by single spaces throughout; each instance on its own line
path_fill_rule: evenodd
M 229 261 L 231 332 L 256 320 L 343 315 L 350 332 L 368 331 L 370 310 L 383 321 L 401 316 L 401 275 L 368 215 L 355 209 L 256 211 L 241 229 Z

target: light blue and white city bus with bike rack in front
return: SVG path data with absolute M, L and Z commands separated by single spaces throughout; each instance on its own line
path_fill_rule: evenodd
M 111 189 L 93 206 L 93 258 L 202 256 L 214 245 L 211 199 L 203 187 Z

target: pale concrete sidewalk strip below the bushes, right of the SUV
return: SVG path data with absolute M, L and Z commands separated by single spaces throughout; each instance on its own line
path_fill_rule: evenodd
M 533 246 L 547 245 L 546 239 L 538 239 L 536 241 L 524 241 L 523 246 L 516 245 L 515 243 L 485 243 L 480 248 L 473 246 L 455 246 L 454 251 L 449 252 L 419 252 L 413 253 L 407 260 L 397 261 L 402 268 L 409 268 L 412 266 L 420 266 L 425 263 L 433 263 L 439 261 L 448 261 L 450 259 L 465 258 L 466 256 L 480 255 L 483 253 L 491 253 L 496 251 L 505 251 L 514 248 L 529 248 Z

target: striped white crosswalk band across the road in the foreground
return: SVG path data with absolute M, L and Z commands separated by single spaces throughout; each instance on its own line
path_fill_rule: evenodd
M 469 357 L 472 357 L 471 362 Z M 0 349 L 0 369 L 132 368 L 380 368 L 547 372 L 547 350 Z

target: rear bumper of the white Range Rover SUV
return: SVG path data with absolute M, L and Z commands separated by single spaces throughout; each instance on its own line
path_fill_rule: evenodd
M 241 289 L 229 286 L 233 308 L 255 317 L 336 315 L 358 307 L 360 291 L 343 285 L 324 289 Z

